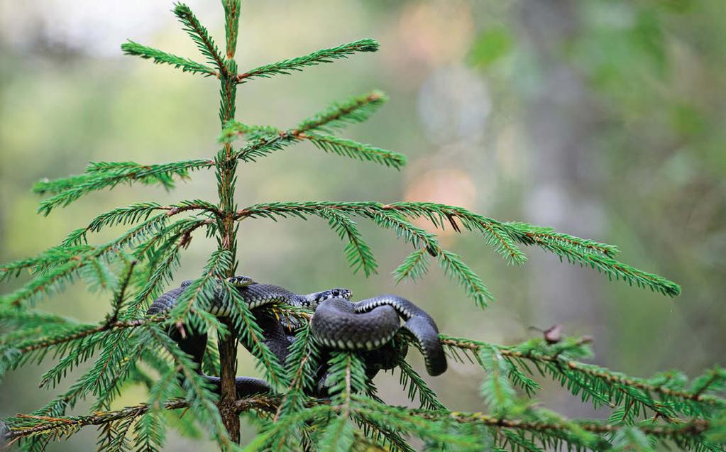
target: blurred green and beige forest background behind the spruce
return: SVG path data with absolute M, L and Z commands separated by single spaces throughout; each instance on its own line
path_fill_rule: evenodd
M 224 36 L 217 1 L 189 4 L 212 33 Z M 362 231 L 380 274 L 351 274 L 343 244 L 317 221 L 243 222 L 242 274 L 297 292 L 343 286 L 358 299 L 395 292 L 422 305 L 442 332 L 502 344 L 539 334 L 529 326 L 563 324 L 568 334 L 595 337 L 597 363 L 629 374 L 676 367 L 696 374 L 723 364 L 722 0 L 248 0 L 243 7 L 240 68 L 362 37 L 376 38 L 381 51 L 245 84 L 237 97 L 240 120 L 286 127 L 334 99 L 380 88 L 391 101 L 348 136 L 403 152 L 409 165 L 396 172 L 300 144 L 240 169 L 241 206 L 446 202 L 614 243 L 623 260 L 682 284 L 683 294 L 669 300 L 610 283 L 537 250 L 523 268 L 506 266 L 477 237 L 446 234 L 444 245 L 497 296 L 481 313 L 440 271 L 394 286 L 388 273 L 407 246 L 367 224 Z M 112 207 L 216 199 L 213 176 L 205 172 L 169 193 L 140 186 L 93 194 L 49 218 L 36 215 L 38 197 L 30 193 L 37 179 L 80 173 L 89 160 L 213 155 L 217 83 L 125 58 L 118 49 L 134 38 L 194 55 L 170 8 L 166 1 L 0 2 L 1 261 L 55 245 Z M 197 274 L 213 247 L 197 237 L 178 280 Z M 77 284 L 43 303 L 98 321 L 108 298 Z M 423 369 L 416 353 L 409 358 Z M 41 369 L 2 382 L 0 416 L 31 411 L 52 397 L 37 389 Z M 256 374 L 244 350 L 239 372 Z M 442 377 L 427 380 L 450 408 L 478 411 L 484 409 L 478 372 L 451 363 Z M 397 375 L 378 377 L 387 378 Z M 546 406 L 602 416 L 546 385 Z M 406 403 L 404 394 L 380 387 L 385 400 Z M 131 387 L 118 404 L 139 400 L 141 390 Z M 89 430 L 52 450 L 86 449 L 94 440 Z M 193 444 L 175 439 L 169 447 L 198 448 Z

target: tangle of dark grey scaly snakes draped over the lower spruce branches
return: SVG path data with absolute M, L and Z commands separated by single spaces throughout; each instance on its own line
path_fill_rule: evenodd
M 436 322 L 409 300 L 396 295 L 379 295 L 353 303 L 350 301 L 351 291 L 343 288 L 298 295 L 280 286 L 257 283 L 248 276 L 234 276 L 228 281 L 237 288 L 252 310 L 262 329 L 263 342 L 280 363 L 285 363 L 288 349 L 295 341 L 293 326 L 261 308 L 275 303 L 286 303 L 315 311 L 311 320 L 311 333 L 322 346 L 323 363 L 327 362 L 326 358 L 331 350 L 354 350 L 362 357 L 367 376 L 372 378 L 382 369 L 393 369 L 399 358 L 406 355 L 405 342 L 401 344 L 401 341 L 392 340 L 396 332 L 403 329 L 415 339 L 429 374 L 435 376 L 446 371 L 446 356 L 439 340 Z M 174 308 L 189 284 L 191 281 L 182 282 L 181 287 L 160 295 L 150 305 L 147 316 L 166 313 Z M 221 296 L 212 300 L 208 311 L 218 317 L 230 314 Z M 403 326 L 400 325 L 399 316 L 404 320 Z M 169 335 L 184 353 L 192 356 L 197 367 L 200 367 L 207 346 L 207 334 L 187 333 L 184 329 L 171 327 Z M 198 371 L 201 373 L 201 370 Z M 219 377 L 203 376 L 216 385 L 219 391 Z M 316 395 L 325 395 L 326 376 L 327 367 L 320 366 L 316 376 Z M 270 390 L 263 379 L 253 377 L 237 377 L 236 387 L 238 398 Z

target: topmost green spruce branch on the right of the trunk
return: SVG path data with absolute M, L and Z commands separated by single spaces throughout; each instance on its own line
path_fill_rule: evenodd
M 304 67 L 333 62 L 335 59 L 347 58 L 356 52 L 377 52 L 378 41 L 374 39 L 360 39 L 331 49 L 322 49 L 317 52 L 292 59 L 283 59 L 280 62 L 256 67 L 245 73 L 237 75 L 237 83 L 245 83 L 252 78 L 269 78 L 273 75 L 290 75 L 292 71 L 303 70 Z

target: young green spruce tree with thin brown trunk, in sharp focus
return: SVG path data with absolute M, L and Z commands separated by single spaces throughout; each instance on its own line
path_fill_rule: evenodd
M 119 184 L 158 184 L 167 188 L 190 173 L 213 170 L 218 200 L 183 200 L 174 205 L 155 202 L 119 207 L 94 218 L 70 233 L 56 247 L 34 258 L 0 267 L 0 280 L 28 270 L 33 279 L 0 302 L 0 374 L 19 366 L 54 364 L 41 379 L 41 387 L 55 387 L 71 369 L 89 361 L 83 375 L 70 388 L 32 414 L 4 419 L 4 440 L 27 451 L 42 451 L 51 441 L 64 440 L 83 427 L 99 431 L 102 451 L 158 451 L 168 427 L 193 430 L 201 426 L 224 451 L 237 450 L 240 416 L 258 427 L 245 451 L 412 451 L 410 437 L 420 437 L 429 450 L 540 451 L 544 448 L 576 450 L 649 451 L 662 444 L 693 451 L 721 451 L 726 440 L 726 371 L 714 367 L 690 381 L 678 371 L 650 378 L 582 363 L 590 357 L 587 337 L 529 340 L 518 345 L 496 345 L 441 334 L 450 359 L 468 361 L 484 369 L 481 393 L 484 413 L 465 413 L 446 407 L 424 380 L 401 359 L 401 390 L 420 408 L 389 406 L 376 395 L 356 353 L 334 352 L 327 380 L 332 396 L 311 398 L 319 348 L 310 334 L 309 313 L 287 305 L 273 306 L 277 316 L 302 320 L 297 340 L 285 363 L 277 361 L 261 342 L 261 329 L 245 303 L 237 303 L 229 318 L 205 311 L 219 284 L 235 274 L 236 234 L 240 221 L 264 218 L 319 217 L 347 241 L 346 258 L 354 271 L 376 271 L 370 248 L 354 218 L 390 229 L 413 251 L 393 272 L 396 281 L 417 279 L 436 260 L 476 305 L 492 300 L 486 285 L 461 258 L 441 247 L 436 235 L 411 222 L 431 221 L 438 229 L 480 234 L 486 245 L 507 263 L 526 261 L 524 247 L 539 247 L 582 267 L 595 268 L 610 279 L 674 297 L 680 287 L 615 259 L 616 247 L 580 239 L 527 223 L 502 222 L 461 207 L 431 202 L 268 202 L 240 208 L 235 203 L 237 166 L 254 162 L 298 141 L 311 141 L 330 154 L 399 169 L 403 155 L 335 136 L 350 123 L 366 120 L 386 101 L 379 91 L 330 104 L 291 128 L 249 126 L 235 120 L 235 95 L 244 83 L 274 75 L 287 75 L 307 66 L 333 62 L 357 52 L 375 52 L 378 43 L 362 39 L 309 55 L 240 71 L 234 60 L 240 0 L 224 0 L 225 42 L 221 52 L 207 29 L 184 4 L 174 15 L 195 42 L 204 59 L 196 62 L 129 41 L 123 52 L 155 63 L 173 65 L 183 72 L 219 81 L 221 147 L 216 155 L 161 165 L 134 162 L 91 163 L 86 172 L 35 186 L 50 197 L 41 202 L 48 215 L 84 194 Z M 240 147 L 233 145 L 244 139 Z M 129 225 L 117 239 L 89 245 L 89 235 L 107 226 Z M 179 255 L 194 234 L 215 237 L 218 247 L 174 310 L 146 316 L 150 303 L 166 289 L 179 268 Z M 250 274 L 253 274 L 250 268 Z M 35 309 L 36 302 L 62 291 L 76 279 L 107 289 L 109 311 L 97 324 Z M 222 283 L 220 283 L 222 281 Z M 280 282 L 273 282 L 280 284 Z M 197 373 L 192 359 L 168 337 L 169 327 L 184 324 L 198 331 L 216 332 L 216 350 L 208 345 L 203 370 L 221 377 L 221 394 L 213 392 Z M 411 342 L 397 334 L 396 341 Z M 237 343 L 256 357 L 258 367 L 274 387 L 269 395 L 237 400 L 234 390 Z M 210 342 L 211 343 L 211 342 Z M 413 343 L 413 342 L 412 342 Z M 217 350 L 219 353 L 217 353 Z M 178 378 L 179 373 L 183 375 Z M 611 410 L 605 422 L 565 419 L 534 403 L 539 385 L 533 374 L 550 377 L 584 403 Z M 110 404 L 129 383 L 145 385 L 145 403 L 111 410 Z M 88 414 L 73 414 L 79 400 L 93 400 Z

